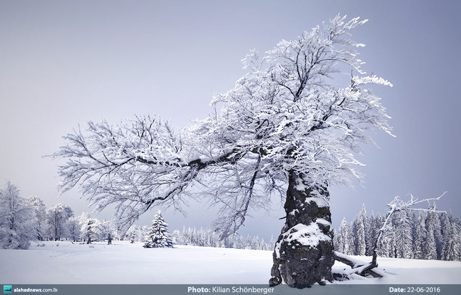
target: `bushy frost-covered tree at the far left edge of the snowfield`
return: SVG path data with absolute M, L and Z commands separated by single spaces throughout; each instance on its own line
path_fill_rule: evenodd
M 31 240 L 37 239 L 33 208 L 19 195 L 11 182 L 0 189 L 0 247 L 28 249 Z

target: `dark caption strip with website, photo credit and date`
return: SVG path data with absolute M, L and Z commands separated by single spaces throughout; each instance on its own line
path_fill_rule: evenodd
M 461 285 L 313 285 L 297 289 L 287 285 L 3 285 L 3 294 L 12 295 L 290 295 L 290 294 L 460 294 Z

